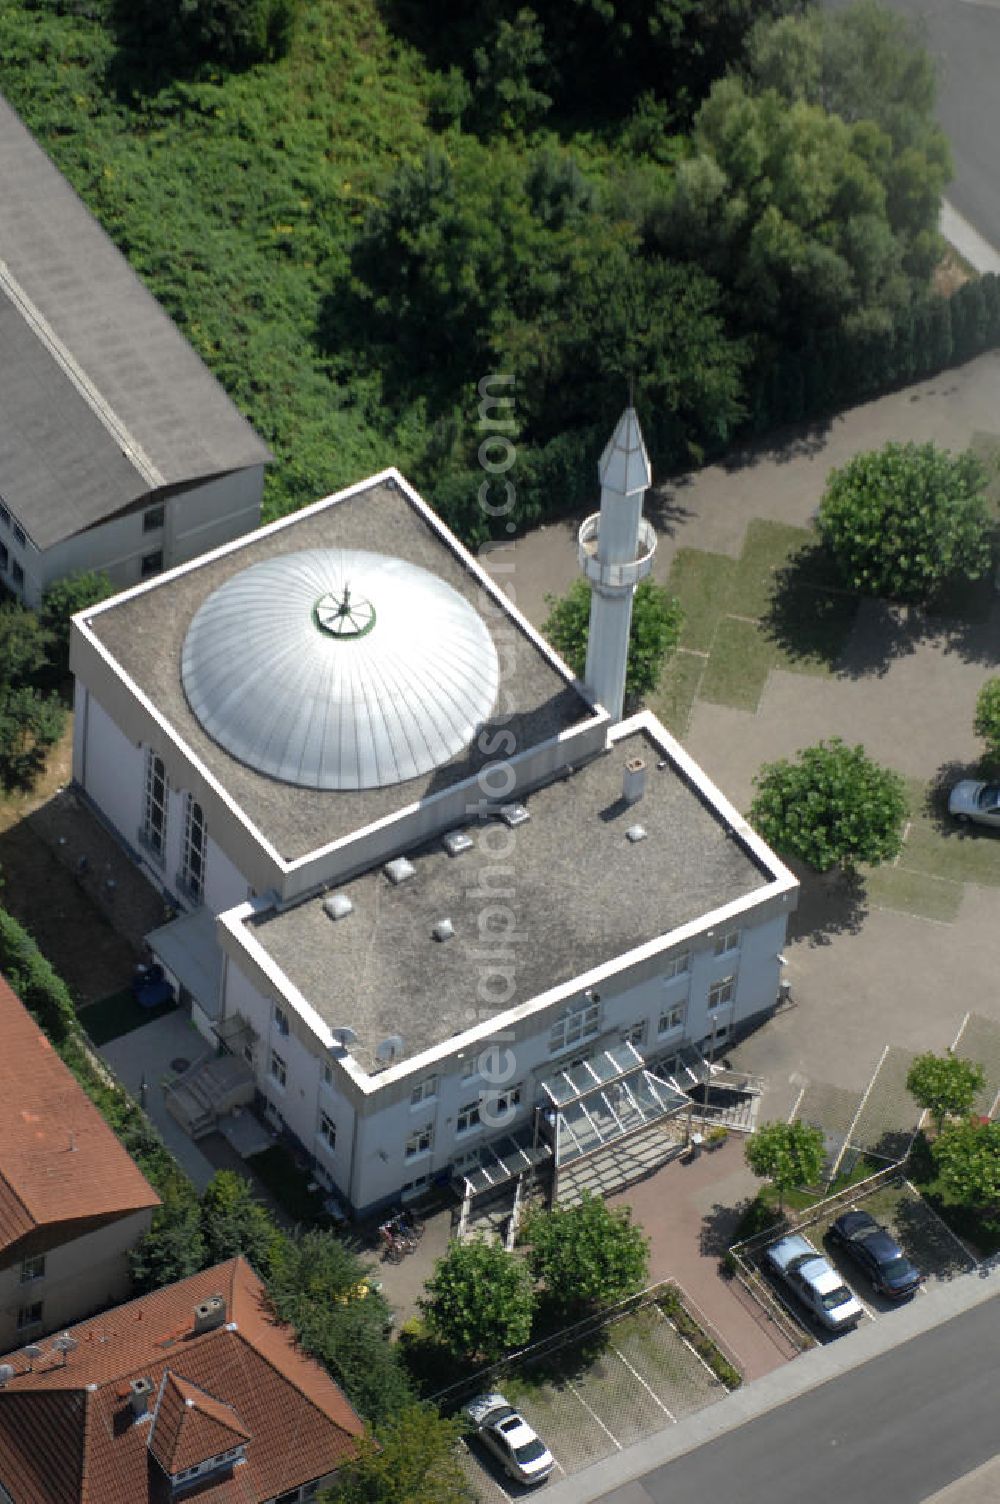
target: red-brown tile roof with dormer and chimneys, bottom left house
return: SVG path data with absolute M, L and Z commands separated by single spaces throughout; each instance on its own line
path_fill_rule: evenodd
M 195 1334 L 194 1307 L 212 1295 L 226 1301 L 226 1324 Z M 244 1463 L 185 1496 L 262 1504 L 356 1453 L 361 1420 L 274 1318 L 244 1259 L 81 1322 L 72 1336 L 65 1360 L 51 1349 L 35 1363 L 8 1355 L 15 1376 L 0 1388 L 0 1483 L 17 1504 L 161 1504 L 158 1463 L 191 1466 L 205 1460 L 194 1456 L 200 1447 L 226 1451 L 244 1439 Z M 138 1378 L 152 1381 L 153 1403 L 137 1421 L 129 1384 Z M 161 1436 L 156 1400 L 162 1408 L 165 1396 Z M 174 1414 L 182 1408 L 194 1414 Z

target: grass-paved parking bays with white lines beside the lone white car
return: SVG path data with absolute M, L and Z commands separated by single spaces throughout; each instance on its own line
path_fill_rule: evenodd
M 674 1426 L 726 1394 L 708 1364 L 656 1302 L 615 1319 L 600 1349 L 571 1343 L 498 1382 L 556 1462 L 555 1477 L 580 1472 L 602 1457 Z M 481 1504 L 532 1490 L 505 1477 L 472 1438 L 463 1462 Z

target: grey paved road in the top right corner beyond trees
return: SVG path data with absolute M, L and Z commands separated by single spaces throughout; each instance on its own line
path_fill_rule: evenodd
M 1000 0 L 887 0 L 926 29 L 938 62 L 938 119 L 952 143 L 949 202 L 1000 248 Z

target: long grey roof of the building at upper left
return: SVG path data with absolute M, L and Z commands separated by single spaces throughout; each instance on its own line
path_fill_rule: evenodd
M 271 453 L 0 98 L 0 496 L 39 549 Z

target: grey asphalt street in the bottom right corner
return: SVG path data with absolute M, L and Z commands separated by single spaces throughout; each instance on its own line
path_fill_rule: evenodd
M 992 1298 L 605 1493 L 603 1504 L 922 1504 L 1000 1450 L 997 1351 Z M 979 1504 L 988 1498 L 995 1493 Z

